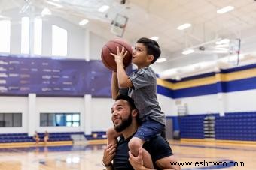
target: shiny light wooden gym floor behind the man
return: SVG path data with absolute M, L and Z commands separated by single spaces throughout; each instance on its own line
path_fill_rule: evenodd
M 256 145 L 202 141 L 169 141 L 172 151 L 180 162 L 192 162 L 192 166 L 181 169 L 256 169 Z M 101 164 L 105 145 L 38 145 L 25 148 L 0 148 L 1 170 L 38 170 L 38 169 L 104 169 Z M 244 166 L 212 165 L 218 161 L 229 163 L 243 162 Z M 205 162 L 205 166 L 194 166 L 195 162 Z M 209 166 L 206 165 L 209 163 Z M 233 165 L 233 164 L 232 164 Z M 236 164 L 238 165 L 238 164 Z M 242 163 L 240 163 L 242 165 Z

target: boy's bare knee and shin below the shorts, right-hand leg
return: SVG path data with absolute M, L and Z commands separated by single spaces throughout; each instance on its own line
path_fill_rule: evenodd
M 133 137 L 132 139 L 130 139 L 130 142 L 128 143 L 128 147 L 134 157 L 138 156 L 139 148 L 141 148 L 143 144 L 144 144 L 144 141 L 142 141 L 142 139 L 139 139 L 138 137 Z M 148 169 L 154 169 L 151 155 L 145 149 L 143 149 L 143 152 L 142 152 L 142 159 L 143 159 L 143 166 L 145 166 Z

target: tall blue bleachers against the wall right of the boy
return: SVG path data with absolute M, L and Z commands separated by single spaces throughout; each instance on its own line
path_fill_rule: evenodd
M 204 115 L 179 117 L 181 138 L 204 139 Z M 215 139 L 256 141 L 256 112 L 228 112 L 215 116 Z

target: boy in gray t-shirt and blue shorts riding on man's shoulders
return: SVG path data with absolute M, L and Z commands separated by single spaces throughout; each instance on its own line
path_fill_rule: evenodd
M 128 94 L 135 101 L 139 110 L 139 119 L 142 125 L 129 142 L 129 149 L 134 156 L 139 154 L 139 148 L 145 141 L 160 134 L 165 127 L 165 115 L 161 112 L 157 101 L 157 78 L 154 71 L 149 67 L 160 57 L 160 48 L 156 41 L 142 37 L 133 50 L 133 64 L 138 70 L 130 76 L 126 75 L 123 68 L 123 58 L 127 54 L 124 48 L 117 47 L 117 54 L 112 54 L 117 63 L 117 72 L 112 73 L 111 91 L 115 99 L 120 94 Z M 120 89 L 119 89 L 120 87 Z M 118 123 L 118 120 L 117 120 Z M 108 144 L 114 144 L 120 133 L 110 129 L 107 132 Z M 151 158 L 146 158 L 150 161 Z M 148 167 L 150 168 L 150 167 Z

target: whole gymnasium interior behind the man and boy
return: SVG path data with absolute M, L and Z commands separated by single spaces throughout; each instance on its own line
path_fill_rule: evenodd
M 181 169 L 254 170 L 254 0 L 0 0 L 0 169 L 106 169 L 102 47 L 141 37 Z

